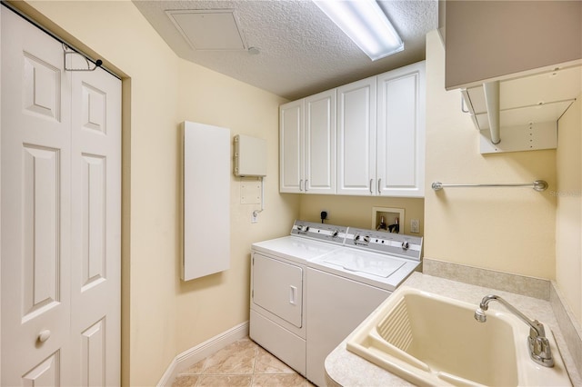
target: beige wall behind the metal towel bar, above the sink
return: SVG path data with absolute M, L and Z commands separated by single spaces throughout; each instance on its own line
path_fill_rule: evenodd
M 445 50 L 426 36 L 426 186 L 529 183 L 527 188 L 430 189 L 425 197 L 425 257 L 554 279 L 556 151 L 479 154 L 478 132 L 460 111 L 460 92 L 445 90 Z M 501 134 L 503 141 L 503 133 Z

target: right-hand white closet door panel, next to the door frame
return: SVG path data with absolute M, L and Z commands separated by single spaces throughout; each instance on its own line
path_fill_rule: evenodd
M 72 375 L 116 385 L 121 356 L 121 81 L 72 75 Z

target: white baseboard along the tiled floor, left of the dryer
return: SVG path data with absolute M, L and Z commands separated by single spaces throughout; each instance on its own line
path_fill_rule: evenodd
M 176 376 L 188 367 L 205 359 L 209 355 L 226 347 L 226 345 L 244 339 L 248 336 L 248 322 L 240 323 L 226 332 L 217 334 L 215 337 L 202 342 L 196 347 L 182 352 L 174 358 L 174 361 L 167 367 L 162 379 L 157 383 L 157 387 L 171 386 Z

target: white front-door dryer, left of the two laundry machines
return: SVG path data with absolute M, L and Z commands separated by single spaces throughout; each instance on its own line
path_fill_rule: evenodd
M 342 248 L 346 227 L 296 221 L 251 247 L 249 336 L 306 376 L 306 263 Z

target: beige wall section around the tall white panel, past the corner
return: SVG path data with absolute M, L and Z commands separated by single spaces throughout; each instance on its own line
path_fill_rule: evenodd
M 278 193 L 278 105 L 286 100 L 185 61 L 179 69 L 182 119 L 225 126 L 233 136 L 266 139 L 268 153 L 265 211 L 259 213 L 258 223 L 250 223 L 250 218 L 260 204 L 241 204 L 241 179 L 231 175 L 231 223 L 224 224 L 231 233 L 230 270 L 180 282 L 176 289 L 176 344 L 183 352 L 193 342 L 203 342 L 248 320 L 250 244 L 289 233 L 298 198 Z

